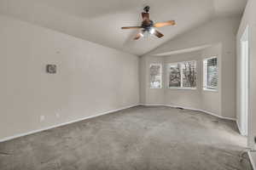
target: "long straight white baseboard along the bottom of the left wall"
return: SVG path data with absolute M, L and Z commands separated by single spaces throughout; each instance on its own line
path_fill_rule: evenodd
M 140 104 L 137 104 L 137 105 L 140 105 Z M 26 135 L 29 135 L 29 134 L 32 134 L 32 133 L 39 133 L 39 132 L 42 132 L 42 131 L 45 131 L 45 130 L 49 130 L 49 129 L 51 129 L 51 128 L 62 127 L 62 126 L 64 126 L 64 125 L 71 124 L 71 123 L 73 123 L 73 122 L 80 122 L 80 121 L 84 121 L 84 120 L 86 120 L 86 119 L 91 119 L 91 118 L 94 118 L 94 117 L 97 117 L 97 116 L 107 115 L 107 114 L 109 114 L 109 113 L 113 113 L 113 112 L 116 112 L 116 111 L 122 111 L 122 110 L 125 110 L 125 109 L 129 109 L 129 108 L 131 108 L 131 107 L 135 107 L 135 106 L 137 106 L 137 105 L 129 105 L 129 106 L 122 107 L 122 108 L 119 108 L 119 109 L 116 109 L 116 110 L 105 111 L 105 112 L 102 112 L 102 113 L 97 114 L 97 115 L 94 115 L 94 116 L 83 117 L 83 118 L 76 119 L 76 120 L 73 120 L 73 121 L 70 121 L 70 122 L 64 122 L 64 123 L 57 124 L 57 125 L 54 125 L 54 126 L 44 127 L 44 128 L 38 129 L 38 130 L 33 130 L 33 131 L 30 131 L 30 132 L 27 132 L 27 133 L 15 134 L 14 136 L 10 136 L 10 137 L 6 137 L 6 138 L 3 138 L 3 139 L 0 139 L 0 143 L 1 143 L 1 142 L 8 141 L 8 140 L 11 140 L 11 139 L 20 138 L 20 137 L 22 137 L 22 136 L 26 136 Z

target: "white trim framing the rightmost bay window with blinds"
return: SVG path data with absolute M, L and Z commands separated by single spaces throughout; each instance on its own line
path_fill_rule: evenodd
M 209 92 L 218 92 L 218 85 L 217 85 L 217 88 L 212 88 L 210 86 L 207 86 L 207 66 L 206 66 L 206 62 L 207 62 L 208 59 L 217 59 L 217 65 L 218 65 L 218 56 L 213 56 L 213 57 L 203 59 L 203 90 L 204 91 L 209 91 Z M 218 74 L 219 74 L 219 69 L 218 69 Z M 219 77 L 218 77 L 218 79 L 219 79 Z

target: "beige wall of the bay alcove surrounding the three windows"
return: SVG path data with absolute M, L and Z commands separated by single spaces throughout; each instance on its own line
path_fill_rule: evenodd
M 147 75 L 147 83 L 143 90 L 146 91 L 147 96 L 144 97 L 145 100 L 141 102 L 145 105 L 174 105 L 183 106 L 186 108 L 192 108 L 197 110 L 204 110 L 212 112 L 218 116 L 221 115 L 221 88 L 218 91 L 205 91 L 202 90 L 203 84 L 203 59 L 216 56 L 219 61 L 219 71 L 221 73 L 221 44 L 212 45 L 212 47 L 205 48 L 203 50 L 189 52 L 185 54 L 172 54 L 170 56 L 154 57 L 154 56 L 144 56 L 141 61 L 144 61 L 143 74 Z M 147 60 L 145 62 L 145 60 Z M 182 61 L 196 61 L 196 71 L 197 71 L 197 81 L 196 89 L 172 89 L 167 88 L 167 65 L 169 63 L 176 63 Z M 149 88 L 149 65 L 152 63 L 162 64 L 163 74 L 162 74 L 162 87 L 160 89 Z M 219 83 L 221 84 L 221 74 Z M 143 94 L 141 94 L 143 95 Z

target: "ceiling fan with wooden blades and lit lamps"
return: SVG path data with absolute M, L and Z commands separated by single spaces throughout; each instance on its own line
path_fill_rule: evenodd
M 145 8 L 143 8 L 144 12 L 142 13 L 143 16 L 143 22 L 141 26 L 124 26 L 121 27 L 121 29 L 143 29 L 142 31 L 140 31 L 136 37 L 134 37 L 134 40 L 139 39 L 140 37 L 144 37 L 144 35 L 146 34 L 151 34 L 154 35 L 156 37 L 163 37 L 164 34 L 160 33 L 160 31 L 155 30 L 155 28 L 160 28 L 163 26 L 174 26 L 175 20 L 168 20 L 166 22 L 158 22 L 158 23 L 154 23 L 152 20 L 149 20 L 149 6 L 146 6 Z

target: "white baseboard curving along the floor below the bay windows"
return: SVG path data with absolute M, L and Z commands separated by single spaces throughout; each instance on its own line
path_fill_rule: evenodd
M 144 105 L 144 104 L 141 104 L 141 105 Z M 145 106 L 167 106 L 167 107 L 172 107 L 172 108 L 177 108 L 177 107 L 179 107 L 179 108 L 183 108 L 183 109 L 191 110 L 191 111 L 201 111 L 201 112 L 207 113 L 208 115 L 211 115 L 211 116 L 217 116 L 218 118 L 221 118 L 221 119 L 226 119 L 226 120 L 230 120 L 230 121 L 236 121 L 236 118 L 218 116 L 217 114 L 212 113 L 212 112 L 210 112 L 210 111 L 204 111 L 204 110 L 201 110 L 201 109 L 195 109 L 195 108 L 190 108 L 190 107 L 184 107 L 184 106 L 182 106 L 182 105 L 145 105 Z

